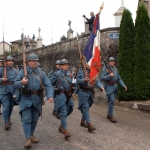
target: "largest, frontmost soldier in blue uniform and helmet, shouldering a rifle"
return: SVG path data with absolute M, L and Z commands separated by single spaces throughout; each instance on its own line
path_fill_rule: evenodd
M 19 71 L 15 87 L 21 88 L 20 115 L 23 122 L 23 129 L 26 137 L 25 148 L 30 148 L 32 143 L 39 140 L 34 137 L 34 130 L 39 116 L 42 113 L 42 92 L 43 86 L 49 102 L 53 101 L 53 89 L 45 72 L 37 67 L 38 57 L 34 53 L 27 58 L 27 78 L 24 77 L 23 69 Z

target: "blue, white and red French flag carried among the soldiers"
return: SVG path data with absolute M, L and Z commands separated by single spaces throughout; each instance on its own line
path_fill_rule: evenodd
M 101 70 L 99 14 L 95 17 L 93 31 L 84 49 L 84 56 L 91 68 L 90 85 L 93 85 Z

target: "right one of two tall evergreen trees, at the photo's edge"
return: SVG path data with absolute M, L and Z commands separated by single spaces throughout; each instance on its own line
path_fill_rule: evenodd
M 137 10 L 134 51 L 135 98 L 146 100 L 150 98 L 150 21 L 144 4 Z

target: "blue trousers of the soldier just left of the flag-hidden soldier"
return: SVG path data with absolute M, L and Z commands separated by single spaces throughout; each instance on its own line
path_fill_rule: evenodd
M 60 115 L 61 125 L 64 129 L 67 129 L 67 105 L 63 104 L 59 109 L 58 113 Z

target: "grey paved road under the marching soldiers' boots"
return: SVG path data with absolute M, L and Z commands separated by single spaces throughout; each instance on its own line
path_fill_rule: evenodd
M 117 124 L 106 119 L 106 103 L 93 104 L 90 114 L 96 130 L 89 133 L 79 126 L 81 114 L 75 101 L 74 112 L 68 117 L 68 130 L 72 137 L 66 141 L 58 132 L 59 120 L 52 116 L 53 103 L 43 107 L 43 118 L 39 119 L 35 136 L 40 143 L 31 150 L 150 150 L 150 114 L 139 110 L 115 107 Z M 4 130 L 0 116 L 0 150 L 23 150 L 24 133 L 18 107 L 12 114 L 12 128 Z

